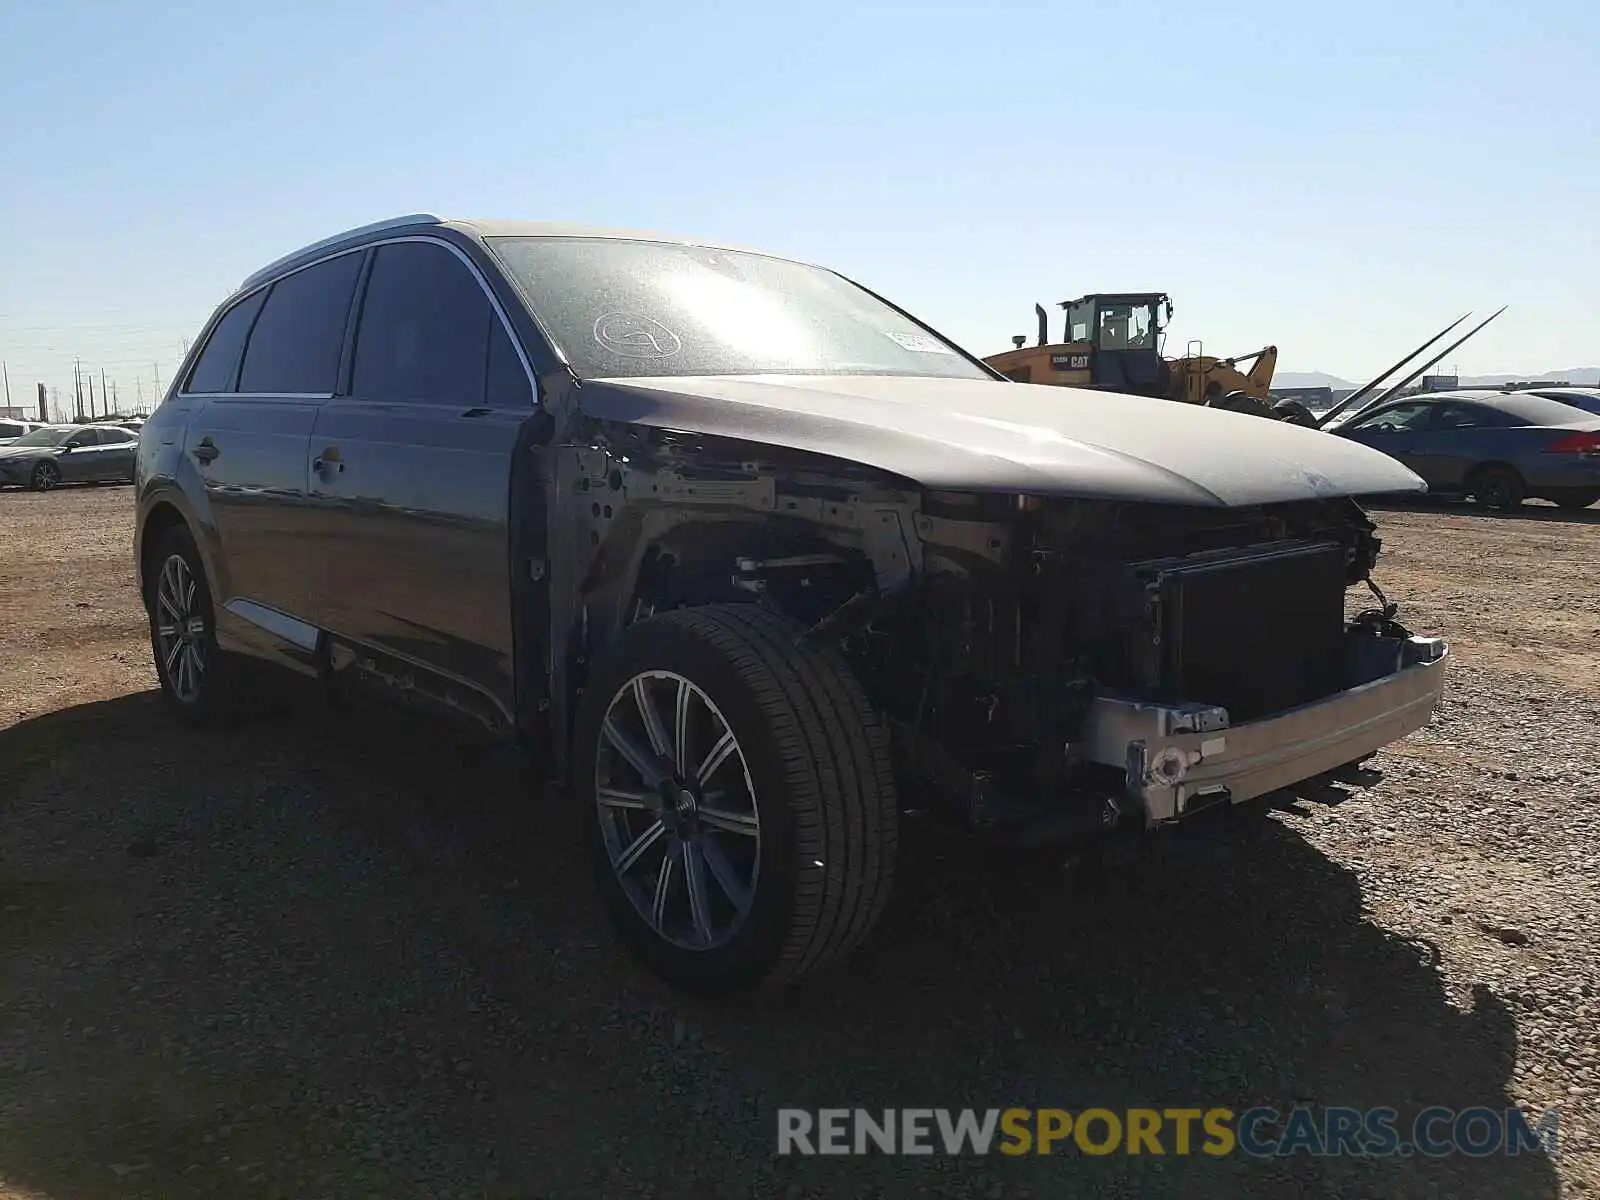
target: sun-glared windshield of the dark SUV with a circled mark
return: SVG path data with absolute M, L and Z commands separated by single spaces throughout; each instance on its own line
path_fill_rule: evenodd
M 994 378 L 821 267 L 626 238 L 488 242 L 581 378 Z

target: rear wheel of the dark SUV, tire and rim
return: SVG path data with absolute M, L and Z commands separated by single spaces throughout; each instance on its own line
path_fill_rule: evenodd
M 162 699 L 187 725 L 227 725 L 237 715 L 237 690 L 232 664 L 216 646 L 211 589 L 194 536 L 182 525 L 170 528 L 150 562 L 144 606 Z

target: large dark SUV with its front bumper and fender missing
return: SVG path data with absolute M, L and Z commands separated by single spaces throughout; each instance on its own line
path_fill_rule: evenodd
M 1142 834 L 1424 725 L 1445 643 L 1349 624 L 1378 451 L 1013 384 L 822 267 L 403 218 L 274 262 L 139 438 L 162 691 L 250 664 L 514 738 L 627 944 L 773 987 L 883 910 L 901 808 Z

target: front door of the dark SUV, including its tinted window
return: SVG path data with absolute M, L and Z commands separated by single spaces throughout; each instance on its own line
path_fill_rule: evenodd
M 534 392 L 453 246 L 373 251 L 347 392 L 318 410 L 309 456 L 328 544 L 318 624 L 509 717 L 510 467 Z

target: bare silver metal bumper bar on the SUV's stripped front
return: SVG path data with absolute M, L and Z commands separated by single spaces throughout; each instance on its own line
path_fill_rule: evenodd
M 1072 749 L 1123 770 L 1147 827 L 1333 771 L 1427 725 L 1450 658 L 1442 638 L 1350 637 L 1358 682 L 1326 699 L 1229 725 L 1203 704 L 1098 696 Z

